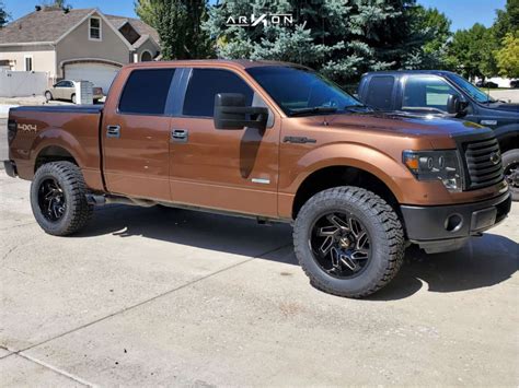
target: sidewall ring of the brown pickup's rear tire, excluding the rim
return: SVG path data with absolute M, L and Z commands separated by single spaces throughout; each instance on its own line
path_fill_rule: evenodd
M 46 179 L 56 179 L 64 190 L 65 197 L 65 214 L 57 222 L 51 222 L 45 217 L 39 209 L 38 203 L 38 191 L 41 184 Z M 36 219 L 39 226 L 47 233 L 53 235 L 59 235 L 67 230 L 67 226 L 72 222 L 73 217 L 73 192 L 72 186 L 67 181 L 64 173 L 55 164 L 45 164 L 38 168 L 34 175 L 34 179 L 31 184 L 31 208 L 33 210 L 34 217 Z

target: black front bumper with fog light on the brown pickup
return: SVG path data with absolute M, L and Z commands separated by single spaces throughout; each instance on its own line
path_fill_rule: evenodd
M 510 211 L 511 196 L 473 203 L 414 207 L 401 205 L 407 239 L 427 252 L 454 250 L 470 236 L 478 235 L 505 220 Z

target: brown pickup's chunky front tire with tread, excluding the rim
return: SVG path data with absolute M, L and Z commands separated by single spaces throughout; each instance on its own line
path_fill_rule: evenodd
M 343 210 L 357 217 L 370 235 L 371 257 L 357 277 L 338 279 L 324 271 L 313 257 L 309 238 L 326 211 Z M 310 198 L 293 225 L 293 246 L 299 263 L 311 283 L 330 294 L 364 297 L 388 284 L 404 258 L 404 232 L 394 210 L 376 193 L 353 186 L 335 187 Z

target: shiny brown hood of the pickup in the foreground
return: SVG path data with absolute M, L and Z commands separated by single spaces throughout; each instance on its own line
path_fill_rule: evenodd
M 439 118 L 432 115 L 411 115 L 406 113 L 366 113 L 341 114 L 333 116 L 312 117 L 313 120 L 326 121 L 332 128 L 366 129 L 372 131 L 392 132 L 411 137 L 454 137 L 474 131 L 488 131 L 477 124 L 450 118 Z

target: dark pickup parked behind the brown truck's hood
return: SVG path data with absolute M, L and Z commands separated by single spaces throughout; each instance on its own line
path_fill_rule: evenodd
M 436 70 L 367 73 L 358 96 L 381 110 L 460 118 L 492 128 L 512 198 L 519 200 L 519 104 L 495 101 L 462 77 Z

